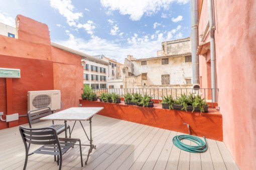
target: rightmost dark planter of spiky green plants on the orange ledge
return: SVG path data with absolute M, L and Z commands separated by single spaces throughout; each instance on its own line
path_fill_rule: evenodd
M 208 105 L 204 101 L 204 98 L 201 98 L 201 95 L 190 94 L 186 96 L 185 94 L 181 94 L 177 99 L 174 99 L 172 95 L 167 95 L 162 96 L 162 98 L 162 108 L 208 112 Z

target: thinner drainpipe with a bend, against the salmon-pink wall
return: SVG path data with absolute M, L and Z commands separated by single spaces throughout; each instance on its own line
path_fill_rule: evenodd
M 215 21 L 214 21 L 214 11 L 213 11 L 213 0 L 208 0 L 208 10 L 209 10 L 209 26 L 210 26 L 210 52 L 211 52 L 211 87 L 216 88 L 216 54 L 215 54 Z M 212 89 L 212 102 L 216 102 L 216 90 Z

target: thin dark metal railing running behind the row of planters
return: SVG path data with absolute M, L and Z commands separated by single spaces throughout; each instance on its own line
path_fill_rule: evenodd
M 162 101 L 162 96 L 172 95 L 174 99 L 181 96 L 181 94 L 186 94 L 186 96 L 191 93 L 194 95 L 201 95 L 202 98 L 209 104 L 209 108 L 217 109 L 216 104 L 218 102 L 218 88 L 100 88 L 93 89 L 98 96 L 101 93 L 111 93 L 115 92 L 123 97 L 126 93 L 135 93 L 138 92 L 143 96 L 145 94 L 151 95 L 152 100 L 155 103 L 160 103 Z M 216 91 L 216 102 L 212 101 L 213 92 Z

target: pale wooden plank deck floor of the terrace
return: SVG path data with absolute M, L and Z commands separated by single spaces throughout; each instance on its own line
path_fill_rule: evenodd
M 50 123 L 41 121 L 33 127 Z M 73 123 L 68 122 L 70 125 Z M 88 121 L 82 123 L 88 131 Z M 62 169 L 238 169 L 223 142 L 207 139 L 209 148 L 206 152 L 190 153 L 173 145 L 172 138 L 179 134 L 183 133 L 95 115 L 92 118 L 92 135 L 96 149 L 93 149 L 88 164 L 81 167 L 76 145 L 64 154 Z M 19 128 L 0 130 L 0 136 L 0 169 L 23 169 L 25 147 Z M 72 137 L 88 143 L 79 122 Z M 36 148 L 32 146 L 30 150 Z M 82 147 L 84 161 L 88 148 Z M 58 166 L 52 155 L 33 154 L 29 156 L 27 169 L 58 169 Z

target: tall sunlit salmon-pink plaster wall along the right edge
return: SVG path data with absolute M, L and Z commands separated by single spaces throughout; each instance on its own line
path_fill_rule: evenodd
M 208 16 L 206 0 L 203 6 L 202 18 Z M 255 169 L 256 3 L 255 0 L 214 0 L 214 7 L 223 141 L 240 169 Z M 199 34 L 207 23 L 207 19 L 202 18 Z M 207 77 L 203 79 L 206 81 Z

